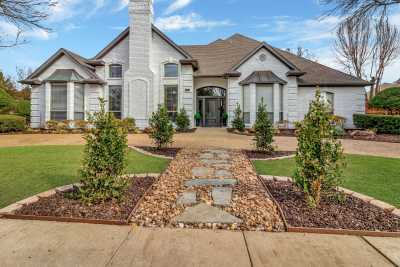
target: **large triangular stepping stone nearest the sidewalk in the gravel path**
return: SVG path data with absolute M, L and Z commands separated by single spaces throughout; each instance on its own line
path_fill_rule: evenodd
M 181 223 L 241 223 L 242 220 L 232 216 L 231 214 L 209 206 L 205 203 L 200 203 L 194 207 L 186 208 L 179 216 L 172 219 L 173 222 Z

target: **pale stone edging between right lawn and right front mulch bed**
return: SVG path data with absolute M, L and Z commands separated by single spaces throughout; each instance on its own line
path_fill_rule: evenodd
M 285 177 L 285 176 L 260 175 L 260 177 L 270 181 L 293 182 L 293 179 L 291 177 Z M 369 203 L 375 207 L 381 208 L 387 212 L 392 213 L 395 216 L 400 217 L 400 209 L 396 208 L 395 206 L 389 203 L 386 203 L 384 201 L 375 199 L 373 197 L 364 194 L 360 194 L 358 192 L 352 191 L 344 187 L 339 187 L 339 191 L 345 193 L 346 195 L 356 197 L 366 203 Z

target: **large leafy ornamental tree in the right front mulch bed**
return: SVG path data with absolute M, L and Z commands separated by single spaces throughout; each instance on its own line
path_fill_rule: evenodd
M 317 207 L 321 194 L 337 192 L 344 167 L 342 145 L 335 137 L 332 115 L 319 89 L 304 120 L 297 123 L 297 140 L 294 179 L 308 204 Z

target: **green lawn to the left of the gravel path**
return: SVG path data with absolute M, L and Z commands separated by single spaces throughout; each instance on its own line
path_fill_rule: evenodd
M 83 146 L 0 148 L 0 208 L 79 181 Z M 129 151 L 126 173 L 158 173 L 168 160 Z

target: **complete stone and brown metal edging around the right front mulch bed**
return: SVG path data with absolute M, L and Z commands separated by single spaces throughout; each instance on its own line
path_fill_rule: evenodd
M 367 231 L 367 230 L 350 230 L 350 229 L 333 229 L 333 228 L 312 228 L 312 227 L 295 227 L 291 226 L 287 223 L 285 215 L 283 213 L 282 208 L 280 207 L 278 201 L 274 198 L 274 196 L 270 193 L 268 186 L 265 184 L 265 180 L 270 181 L 281 181 L 281 182 L 293 182 L 291 177 L 286 176 L 272 176 L 272 175 L 258 175 L 260 177 L 261 183 L 265 187 L 265 190 L 268 192 L 269 196 L 273 200 L 273 202 L 277 205 L 278 210 L 282 216 L 283 222 L 286 227 L 287 232 L 292 233 L 311 233 L 311 234 L 336 234 L 336 235 L 354 235 L 354 236 L 371 236 L 371 237 L 399 237 L 400 232 L 384 232 L 384 231 Z M 400 209 L 396 207 L 377 200 L 375 198 L 354 192 L 352 190 L 339 187 L 339 190 L 347 195 L 351 195 L 353 197 L 359 198 L 360 200 L 374 205 L 378 208 L 391 212 L 393 215 L 400 217 Z

